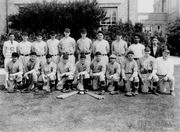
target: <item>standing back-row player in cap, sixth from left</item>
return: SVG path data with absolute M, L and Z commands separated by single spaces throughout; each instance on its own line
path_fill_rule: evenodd
M 81 30 L 81 38 L 77 41 L 77 53 L 79 54 L 85 54 L 86 60 L 91 62 L 91 50 L 92 50 L 92 41 L 86 37 L 87 31 L 86 29 Z

